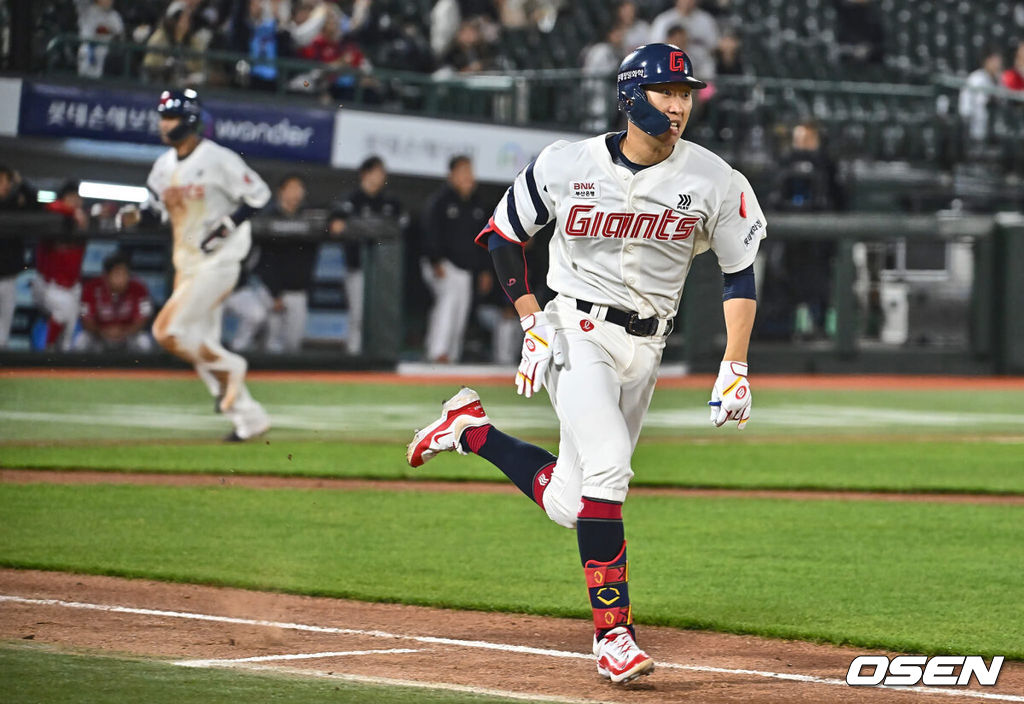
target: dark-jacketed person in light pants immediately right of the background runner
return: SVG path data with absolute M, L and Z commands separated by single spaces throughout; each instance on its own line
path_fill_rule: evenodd
M 278 183 L 273 204 L 266 215 L 281 220 L 302 219 L 306 182 L 296 173 Z M 298 352 L 306 333 L 309 287 L 313 281 L 316 253 L 314 241 L 271 237 L 259 246 L 256 275 L 266 288 L 266 351 Z

